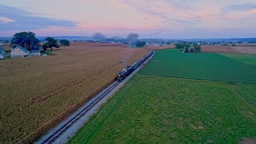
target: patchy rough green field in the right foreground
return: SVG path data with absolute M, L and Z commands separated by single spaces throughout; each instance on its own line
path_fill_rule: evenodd
M 69 143 L 255 142 L 253 87 L 136 75 Z

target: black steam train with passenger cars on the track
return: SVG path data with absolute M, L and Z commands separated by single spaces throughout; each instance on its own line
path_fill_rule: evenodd
M 142 57 L 141 59 L 139 59 L 139 61 L 133 63 L 131 66 L 123 69 L 122 71 L 120 71 L 120 73 L 118 73 L 118 81 L 123 81 L 127 76 L 129 76 L 134 70 L 136 70 L 139 65 L 143 64 L 150 56 L 152 56 L 154 53 L 154 51 L 150 51 L 148 53 L 148 55 Z

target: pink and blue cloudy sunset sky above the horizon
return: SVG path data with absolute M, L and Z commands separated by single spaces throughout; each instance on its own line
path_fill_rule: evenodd
M 256 0 L 0 0 L 0 37 L 256 37 Z

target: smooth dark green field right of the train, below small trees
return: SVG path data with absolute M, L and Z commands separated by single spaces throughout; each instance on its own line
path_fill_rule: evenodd
M 155 51 L 143 75 L 256 83 L 256 67 L 218 53 L 181 53 L 175 49 Z

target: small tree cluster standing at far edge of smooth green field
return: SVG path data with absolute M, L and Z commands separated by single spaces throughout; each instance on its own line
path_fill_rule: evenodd
M 201 51 L 201 46 L 197 45 L 197 43 L 193 43 L 193 46 L 194 46 L 194 49 L 188 43 L 176 43 L 175 44 L 176 49 L 179 49 L 181 51 L 185 49 L 184 52 L 189 52 L 189 51 L 190 52 L 200 52 Z M 190 49 L 190 47 L 191 47 L 191 49 Z

